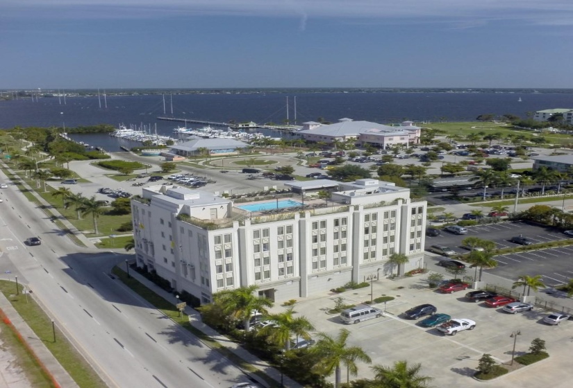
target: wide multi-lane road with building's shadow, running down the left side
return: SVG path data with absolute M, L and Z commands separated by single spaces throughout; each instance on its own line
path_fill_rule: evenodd
M 244 380 L 226 358 L 108 276 L 131 255 L 78 248 L 15 186 L 0 196 L 1 272 L 33 291 L 110 387 L 230 387 Z M 26 247 L 31 236 L 42 245 Z

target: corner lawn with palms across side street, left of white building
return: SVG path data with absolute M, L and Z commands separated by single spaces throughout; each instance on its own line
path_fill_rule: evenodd
M 71 222 L 78 231 L 93 231 L 94 230 L 94 220 L 91 215 L 85 215 L 78 220 L 78 214 L 74 206 L 69 206 L 67 209 L 63 207 L 62 198 L 54 197 L 51 193 L 54 191 L 53 188 L 49 187 L 48 192 L 44 193 L 41 191 L 40 194 L 44 200 L 47 200 L 58 212 L 63 215 L 69 222 Z M 106 211 L 112 211 L 111 208 L 104 208 Z M 97 218 L 97 229 L 99 234 L 95 235 L 93 233 L 86 233 L 86 236 L 97 237 L 97 236 L 107 236 L 115 231 L 115 228 L 124 222 L 131 221 L 131 214 L 106 214 L 103 213 Z

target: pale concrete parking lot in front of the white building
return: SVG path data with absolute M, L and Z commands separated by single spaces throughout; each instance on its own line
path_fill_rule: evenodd
M 342 324 L 336 315 L 326 312 L 317 314 L 320 310 L 332 308 L 333 299 L 338 295 L 323 297 L 297 303 L 296 310 L 300 315 L 311 319 L 319 330 L 336 335 L 341 328 L 351 331 L 351 345 L 362 347 L 372 358 L 372 364 L 392 365 L 397 360 L 408 360 L 409 364 L 420 362 L 422 374 L 435 378 L 433 387 L 454 387 L 463 384 L 465 387 L 478 387 L 483 383 L 476 382 L 471 376 L 477 367 L 477 360 L 483 353 L 490 353 L 498 362 L 509 362 L 513 339 L 510 334 L 520 330 L 517 342 L 517 354 L 527 351 L 531 340 L 541 337 L 547 342 L 551 353 L 553 346 L 564 341 L 570 342 L 573 336 L 573 321 L 562 322 L 559 326 L 549 326 L 542 323 L 547 312 L 535 308 L 530 312 L 520 312 L 515 315 L 501 311 L 501 308 L 485 307 L 483 302 L 473 303 L 465 300 L 465 291 L 454 294 L 441 294 L 427 288 L 424 275 L 415 278 L 404 278 L 398 281 L 383 280 L 375 283 L 374 295 L 387 294 L 396 297 L 384 306 L 383 303 L 374 305 L 386 310 L 385 317 L 370 319 L 358 324 Z M 401 288 L 403 287 L 403 288 Z M 370 299 L 369 288 L 352 290 L 340 294 L 347 303 L 360 303 Z M 414 306 L 431 303 L 438 312 L 451 315 L 452 318 L 467 318 L 476 321 L 474 330 L 465 330 L 455 336 L 442 335 L 436 328 L 424 328 L 419 321 L 408 320 L 401 314 Z M 420 319 L 422 321 L 422 319 Z M 360 365 L 361 377 L 372 378 L 372 371 L 365 365 Z M 517 379 L 525 380 L 524 376 Z M 528 374 L 529 376 L 529 374 Z M 345 378 L 343 373 L 343 377 Z M 495 383 L 495 387 L 514 387 L 504 385 L 510 381 Z M 343 379 L 344 380 L 344 379 Z M 522 387 L 539 387 L 540 382 L 528 380 Z

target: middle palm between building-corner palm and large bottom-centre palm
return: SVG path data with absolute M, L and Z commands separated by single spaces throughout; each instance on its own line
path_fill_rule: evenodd
M 285 312 L 279 314 L 271 314 L 267 320 L 272 321 L 276 326 L 266 326 L 260 330 L 260 335 L 267 335 L 267 338 L 279 346 L 290 350 L 290 337 L 296 335 L 297 343 L 299 337 L 306 340 L 310 339 L 310 330 L 314 330 L 313 324 L 306 319 L 306 317 L 293 317 L 296 311 L 293 307 L 288 308 Z

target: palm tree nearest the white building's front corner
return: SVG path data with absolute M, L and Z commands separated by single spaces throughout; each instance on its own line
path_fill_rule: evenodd
M 258 285 L 220 291 L 213 295 L 213 302 L 219 304 L 226 315 L 234 319 L 241 319 L 244 323 L 244 329 L 249 331 L 253 311 L 265 315 L 267 314 L 267 307 L 272 307 L 270 299 L 254 294 L 256 290 L 258 290 Z

